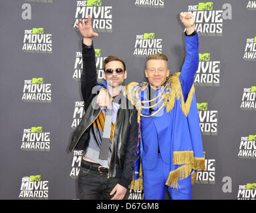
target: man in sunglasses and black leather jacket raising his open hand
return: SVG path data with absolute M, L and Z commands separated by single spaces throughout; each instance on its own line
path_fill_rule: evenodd
M 134 174 L 138 140 L 136 108 L 121 93 L 122 82 L 127 77 L 126 67 L 119 57 L 110 56 L 105 59 L 104 79 L 108 81 L 113 103 L 110 111 L 106 107 L 99 107 L 96 101 L 99 88 L 92 43 L 92 37 L 98 36 L 98 33 L 92 31 L 90 16 L 88 21 L 80 19 L 77 25 L 84 37 L 81 87 L 85 113 L 72 135 L 69 150 L 84 150 L 78 176 L 79 196 L 80 199 L 90 200 L 122 200 Z M 111 131 L 110 125 L 104 126 L 107 116 L 110 118 Z M 110 136 L 106 137 L 105 132 L 110 132 Z M 108 141 L 106 158 L 100 157 L 103 139 Z

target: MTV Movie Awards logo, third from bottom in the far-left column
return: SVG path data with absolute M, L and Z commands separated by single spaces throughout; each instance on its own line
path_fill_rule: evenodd
M 25 80 L 21 100 L 51 103 L 51 84 L 43 83 L 43 78 Z

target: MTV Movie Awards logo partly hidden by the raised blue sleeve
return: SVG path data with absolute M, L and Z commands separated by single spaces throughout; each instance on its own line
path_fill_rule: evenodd
M 220 83 L 221 61 L 212 61 L 210 53 L 199 53 L 199 68 L 195 75 L 195 85 L 216 86 Z

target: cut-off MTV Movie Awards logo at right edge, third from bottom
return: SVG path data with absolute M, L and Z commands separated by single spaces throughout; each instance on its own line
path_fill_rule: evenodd
M 242 97 L 242 103 L 241 108 L 243 110 L 255 110 L 256 109 L 256 87 L 253 86 L 251 88 L 245 88 L 243 89 L 243 97 Z

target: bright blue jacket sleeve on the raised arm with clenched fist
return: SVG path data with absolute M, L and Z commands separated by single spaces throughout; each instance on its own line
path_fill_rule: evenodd
M 184 101 L 194 83 L 195 73 L 199 67 L 199 37 L 197 32 L 195 35 L 185 35 L 186 42 L 186 59 L 180 73 L 180 83 Z

